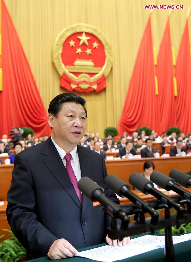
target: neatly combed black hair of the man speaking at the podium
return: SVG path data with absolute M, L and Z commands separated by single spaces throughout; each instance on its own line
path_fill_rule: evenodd
M 73 93 L 63 93 L 63 94 L 57 95 L 55 98 L 53 98 L 52 101 L 49 104 L 48 113 L 57 117 L 59 111 L 61 111 L 61 109 L 62 109 L 63 103 L 67 103 L 67 102 L 82 105 L 82 107 L 84 107 L 84 111 L 85 111 L 86 117 L 87 117 L 88 113 L 87 113 L 87 110 L 85 108 L 86 100 L 84 98 L 82 98 L 81 96 L 75 95 Z

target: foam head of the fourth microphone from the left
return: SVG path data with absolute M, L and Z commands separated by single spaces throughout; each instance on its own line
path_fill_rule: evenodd
M 167 185 L 169 181 L 172 181 L 174 183 L 174 179 L 170 178 L 169 176 L 166 176 L 165 174 L 160 173 L 157 170 L 151 173 L 150 179 L 153 183 L 164 188 L 165 190 L 170 190 Z

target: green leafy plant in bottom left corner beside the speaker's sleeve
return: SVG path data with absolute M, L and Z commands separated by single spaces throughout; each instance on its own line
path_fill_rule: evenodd
M 25 261 L 26 250 L 15 238 L 13 232 L 8 229 L 2 229 L 9 232 L 10 238 L 2 241 L 4 235 L 0 236 L 0 261 L 3 262 L 21 262 Z

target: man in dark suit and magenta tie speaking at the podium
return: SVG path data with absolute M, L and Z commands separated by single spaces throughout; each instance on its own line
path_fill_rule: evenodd
M 116 246 L 117 240 L 105 238 L 107 215 L 77 187 L 81 177 L 89 176 L 119 203 L 105 186 L 103 157 L 77 145 L 86 130 L 85 100 L 63 93 L 50 102 L 48 111 L 51 137 L 15 156 L 7 194 L 7 219 L 14 235 L 34 258 L 71 257 L 76 249 L 104 240 Z

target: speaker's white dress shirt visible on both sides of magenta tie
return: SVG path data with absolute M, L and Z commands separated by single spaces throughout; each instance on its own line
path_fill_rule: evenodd
M 53 138 L 51 137 L 52 139 L 52 142 L 54 144 L 54 146 L 56 147 L 60 157 L 61 157 L 61 160 L 64 164 L 64 166 L 66 167 L 66 160 L 64 159 L 65 155 L 67 154 L 59 145 L 56 144 L 56 142 L 53 140 Z M 71 158 L 71 163 L 72 163 L 72 168 L 73 168 L 73 171 L 74 171 L 74 174 L 77 178 L 77 181 L 79 181 L 81 178 L 82 178 L 82 175 L 81 175 L 81 170 L 80 170 L 80 165 L 79 165 L 79 157 L 78 157 L 78 153 L 77 153 L 77 146 L 70 152 L 70 155 L 72 155 L 72 158 Z

